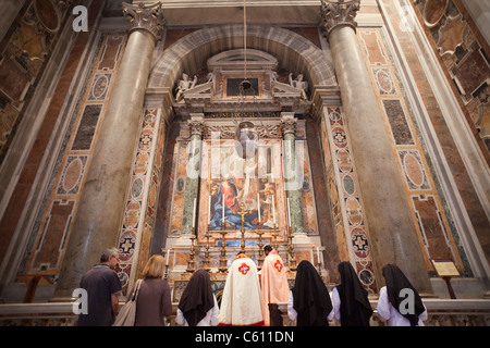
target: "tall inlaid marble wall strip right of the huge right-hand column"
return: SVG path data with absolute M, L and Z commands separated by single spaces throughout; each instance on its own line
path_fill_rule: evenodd
M 433 9 L 432 9 L 433 10 Z M 436 14 L 433 14 L 436 15 Z M 385 92 L 380 88 L 379 66 L 370 63 L 371 82 L 382 110 L 385 114 L 387 130 L 392 135 L 392 147 L 397 154 L 400 174 L 406 188 L 406 199 L 412 207 L 414 223 L 420 248 L 424 250 L 426 266 L 428 271 L 433 271 L 430 262 L 433 258 L 452 259 L 460 271 L 464 271 L 460 250 L 456 248 L 453 234 L 456 231 L 450 229 L 450 224 L 445 212 L 440 208 L 441 199 L 433 183 L 432 174 L 427 165 L 425 152 L 416 133 L 414 120 L 408 112 L 407 101 L 403 95 L 403 86 L 395 77 L 395 66 L 391 62 L 392 54 L 383 44 L 381 30 L 360 28 L 358 30 L 360 42 L 366 38 L 378 42 L 378 45 L 363 45 L 366 59 L 368 57 L 387 57 L 383 73 L 390 78 L 391 90 Z M 377 39 L 375 40 L 373 37 Z M 382 52 L 373 52 L 381 50 Z

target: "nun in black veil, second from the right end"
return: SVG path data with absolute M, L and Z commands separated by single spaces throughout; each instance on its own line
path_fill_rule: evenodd
M 372 308 L 356 271 L 350 262 L 343 261 L 339 263 L 339 273 L 341 284 L 332 291 L 335 320 L 342 326 L 369 326 Z

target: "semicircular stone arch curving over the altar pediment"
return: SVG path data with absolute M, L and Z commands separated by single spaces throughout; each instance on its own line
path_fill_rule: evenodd
M 154 66 L 148 88 L 172 87 L 184 71 L 197 71 L 206 60 L 221 51 L 244 46 L 244 29 L 225 25 L 194 32 L 164 50 Z M 303 74 L 313 88 L 336 87 L 333 63 L 320 48 L 291 30 L 250 25 L 247 47 L 275 57 L 287 70 Z

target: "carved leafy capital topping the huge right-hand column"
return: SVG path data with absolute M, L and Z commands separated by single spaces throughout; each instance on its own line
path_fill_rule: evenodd
M 357 22 L 354 21 L 360 9 L 360 0 L 321 0 L 320 27 L 324 36 L 338 26 L 351 26 L 356 29 Z

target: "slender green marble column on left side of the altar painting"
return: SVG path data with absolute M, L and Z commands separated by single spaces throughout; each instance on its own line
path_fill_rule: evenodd
M 187 176 L 185 178 L 184 212 L 181 231 L 183 236 L 193 234 L 193 224 L 195 224 L 195 234 L 197 235 L 196 217 L 199 203 L 201 145 L 205 128 L 204 114 L 191 114 L 191 120 L 187 123 L 191 130 L 191 141 L 187 145 Z

